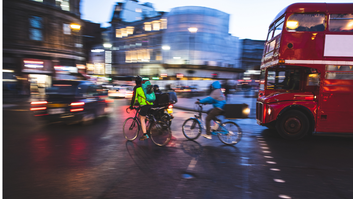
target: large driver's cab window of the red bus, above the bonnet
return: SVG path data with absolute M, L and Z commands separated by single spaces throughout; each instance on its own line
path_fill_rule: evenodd
M 299 90 L 299 80 L 299 70 L 269 68 L 267 89 Z

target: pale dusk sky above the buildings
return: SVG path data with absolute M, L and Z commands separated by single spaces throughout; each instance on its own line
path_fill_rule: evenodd
M 81 18 L 110 26 L 113 5 L 124 0 L 81 0 Z M 156 11 L 169 12 L 180 6 L 203 6 L 230 14 L 229 33 L 239 39 L 265 40 L 268 26 L 286 6 L 296 2 L 323 2 L 322 0 L 142 0 L 150 2 Z M 351 3 L 352 0 L 327 0 L 327 3 Z

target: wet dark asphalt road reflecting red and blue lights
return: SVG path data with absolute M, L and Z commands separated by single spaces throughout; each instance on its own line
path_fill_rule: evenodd
M 255 103 L 241 95 L 230 100 Z M 352 137 L 288 141 L 245 119 L 237 121 L 244 134 L 235 146 L 217 137 L 189 141 L 181 125 L 193 113 L 174 109 L 172 141 L 158 147 L 125 140 L 122 125 L 132 116 L 126 104 L 116 99 L 113 113 L 90 126 L 48 126 L 25 103 L 3 106 L 3 197 L 353 198 Z

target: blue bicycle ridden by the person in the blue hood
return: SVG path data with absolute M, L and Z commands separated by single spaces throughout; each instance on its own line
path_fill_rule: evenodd
M 196 110 L 194 111 L 195 118 L 189 118 L 185 120 L 183 124 L 183 134 L 189 140 L 195 140 L 201 135 L 202 129 L 205 129 L 205 122 L 202 120 L 202 106 L 205 104 L 199 103 L 195 104 Z M 200 122 L 201 120 L 201 122 Z M 218 136 L 220 141 L 227 145 L 233 145 L 240 141 L 243 132 L 240 127 L 232 121 L 227 121 L 222 123 L 218 118 L 214 119 L 215 125 L 211 127 L 211 134 Z

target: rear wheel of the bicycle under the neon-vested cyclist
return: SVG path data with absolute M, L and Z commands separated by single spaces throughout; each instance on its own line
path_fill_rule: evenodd
M 172 138 L 172 130 L 165 121 L 157 120 L 156 123 L 152 122 L 150 124 L 150 136 L 156 145 L 164 146 Z

